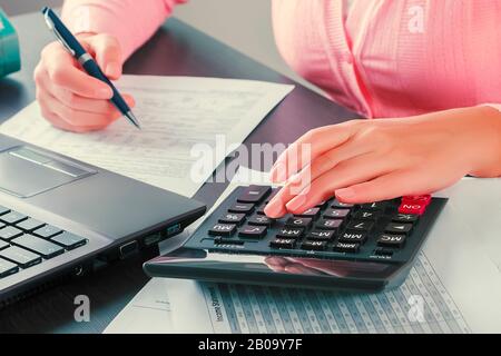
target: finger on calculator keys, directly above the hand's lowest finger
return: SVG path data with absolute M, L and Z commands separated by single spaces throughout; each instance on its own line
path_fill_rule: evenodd
M 286 202 L 285 207 L 288 212 L 301 214 L 330 199 L 337 189 L 374 179 L 399 168 L 391 159 L 375 154 L 355 157 L 313 180 L 308 189 Z

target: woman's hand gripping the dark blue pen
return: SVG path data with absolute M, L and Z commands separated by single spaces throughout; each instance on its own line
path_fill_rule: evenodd
M 118 40 L 108 34 L 81 33 L 77 39 L 110 80 L 121 76 Z M 75 132 L 107 127 L 120 112 L 108 101 L 111 88 L 90 77 L 59 42 L 48 44 L 35 69 L 37 99 L 42 116 L 53 126 Z M 124 95 L 129 107 L 134 99 Z

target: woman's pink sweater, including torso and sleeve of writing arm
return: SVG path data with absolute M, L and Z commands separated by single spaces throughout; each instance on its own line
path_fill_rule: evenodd
M 63 19 L 75 32 L 115 34 L 127 58 L 184 1 L 67 0 Z M 272 7 L 287 63 L 364 117 L 501 102 L 501 1 L 273 0 Z

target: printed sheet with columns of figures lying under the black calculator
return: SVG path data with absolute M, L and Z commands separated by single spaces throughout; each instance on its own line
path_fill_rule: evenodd
M 256 181 L 258 175 L 247 169 L 238 171 L 237 177 L 243 176 L 261 184 L 267 179 Z M 219 200 L 234 187 L 232 182 Z M 461 207 L 472 205 L 472 189 L 478 192 L 475 205 L 483 202 L 488 210 L 466 216 Z M 477 215 L 500 221 L 501 212 L 489 210 L 498 205 L 500 195 L 492 192 L 499 190 L 501 179 L 466 178 L 443 191 L 450 200 L 409 277 L 396 289 L 346 294 L 154 278 L 106 332 L 500 333 L 501 273 L 489 258 L 495 251 L 488 251 L 474 234 Z M 499 238 L 499 233 L 483 230 L 482 236 Z M 158 303 L 168 304 L 168 312 L 154 316 L 144 312 Z

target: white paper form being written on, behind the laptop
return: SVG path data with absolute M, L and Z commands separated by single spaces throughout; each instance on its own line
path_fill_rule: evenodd
M 217 137 L 224 137 L 226 146 L 242 144 L 294 88 L 149 76 L 124 76 L 117 87 L 135 97 L 143 130 L 121 118 L 104 131 L 65 132 L 47 122 L 33 102 L 0 126 L 0 132 L 190 197 L 212 175 L 209 169 L 191 177 L 194 162 L 206 154 L 216 168 L 229 154 L 226 147 L 216 149 Z M 191 152 L 195 145 L 197 156 Z

